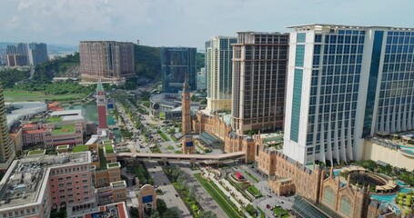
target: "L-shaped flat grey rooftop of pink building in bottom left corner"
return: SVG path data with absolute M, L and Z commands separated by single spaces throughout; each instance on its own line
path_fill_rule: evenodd
M 15 160 L 0 181 L 0 213 L 30 204 L 42 203 L 50 169 L 90 163 L 90 152 L 76 154 L 30 155 Z

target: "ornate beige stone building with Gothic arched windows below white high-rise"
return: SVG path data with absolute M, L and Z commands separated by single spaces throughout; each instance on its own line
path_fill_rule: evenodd
M 370 198 L 369 187 L 358 187 L 340 181 L 333 168 L 327 170 L 314 165 L 310 168 L 294 161 L 285 154 L 260 144 L 257 153 L 258 168 L 269 175 L 268 187 L 278 195 L 295 193 L 309 204 L 327 207 L 341 217 L 397 217 L 388 207 L 380 206 Z M 298 209 L 300 210 L 300 208 Z M 303 211 L 302 213 L 306 213 Z

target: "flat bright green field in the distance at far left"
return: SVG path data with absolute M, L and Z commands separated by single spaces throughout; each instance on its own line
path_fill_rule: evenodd
M 4 90 L 6 102 L 44 102 L 48 101 L 70 101 L 83 99 L 85 94 L 45 94 L 42 92 L 28 92 L 20 90 Z

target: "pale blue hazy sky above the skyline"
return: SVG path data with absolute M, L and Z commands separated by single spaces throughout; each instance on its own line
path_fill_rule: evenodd
M 204 49 L 215 35 L 289 25 L 414 27 L 412 0 L 0 0 L 0 42 L 116 40 Z

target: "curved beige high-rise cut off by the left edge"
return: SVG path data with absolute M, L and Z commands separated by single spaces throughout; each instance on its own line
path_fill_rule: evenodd
M 0 170 L 5 170 L 15 158 L 15 145 L 10 140 L 7 118 L 5 116 L 5 99 L 0 84 Z

